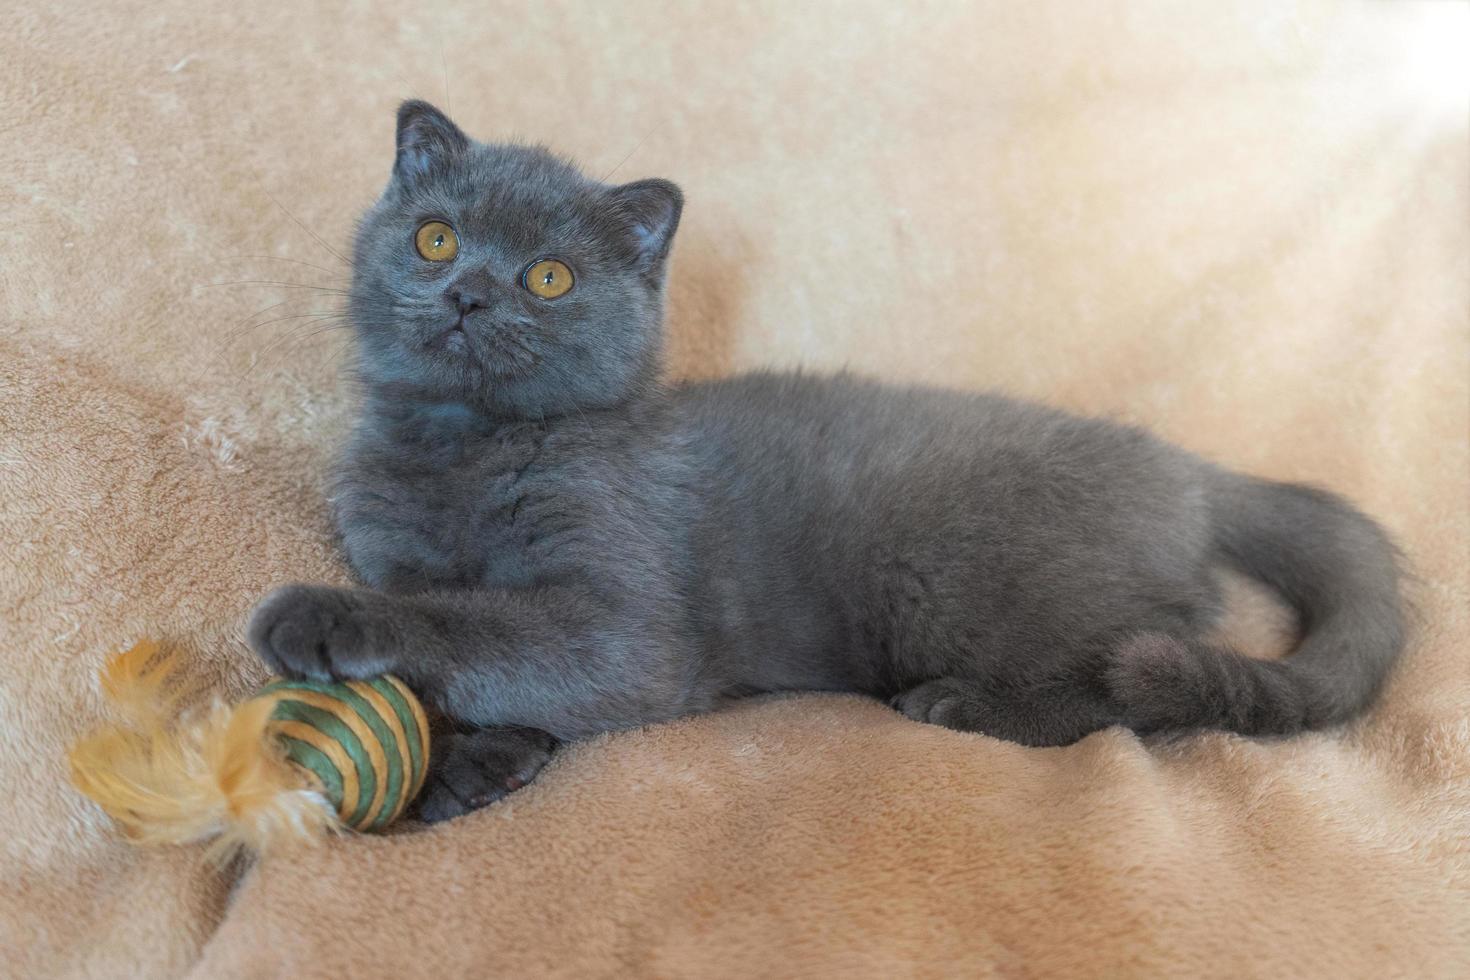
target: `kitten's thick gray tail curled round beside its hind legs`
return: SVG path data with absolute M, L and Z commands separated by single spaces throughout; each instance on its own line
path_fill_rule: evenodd
M 1285 735 L 1344 721 L 1377 695 L 1405 638 L 1399 557 L 1344 500 L 1310 486 L 1211 472 L 1220 555 L 1295 607 L 1286 660 L 1164 635 L 1126 641 L 1108 686 L 1139 730 L 1220 727 Z

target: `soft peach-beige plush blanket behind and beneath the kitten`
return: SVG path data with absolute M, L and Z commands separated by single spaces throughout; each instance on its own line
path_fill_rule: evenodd
M 10 0 L 0 973 L 1470 974 L 1464 13 Z M 106 652 L 238 693 L 251 602 L 344 580 L 351 394 L 303 314 L 410 94 L 684 185 L 678 375 L 1003 388 L 1347 492 L 1419 576 L 1382 707 L 1035 751 L 778 698 L 238 884 L 118 843 L 62 761 Z

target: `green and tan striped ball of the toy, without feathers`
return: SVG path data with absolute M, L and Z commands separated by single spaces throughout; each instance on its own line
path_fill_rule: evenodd
M 378 830 L 404 811 L 429 768 L 429 720 L 392 676 L 323 683 L 276 680 L 270 733 L 353 830 Z

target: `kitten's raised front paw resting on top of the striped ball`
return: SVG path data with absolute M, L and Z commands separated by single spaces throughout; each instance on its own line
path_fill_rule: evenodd
M 373 649 L 362 599 L 350 589 L 287 585 L 250 614 L 250 646 L 270 670 L 310 680 L 375 677 L 391 669 Z

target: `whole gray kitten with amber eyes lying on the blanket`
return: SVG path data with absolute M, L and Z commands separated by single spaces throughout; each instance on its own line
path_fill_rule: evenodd
M 757 373 L 664 386 L 682 195 L 481 144 L 420 101 L 356 239 L 365 404 L 335 480 L 363 588 L 285 586 L 275 670 L 392 671 L 453 729 L 428 820 L 557 741 L 856 691 L 1026 745 L 1361 711 L 1404 642 L 1383 532 L 1319 489 L 992 395 Z M 1226 563 L 1286 661 L 1202 636 Z

